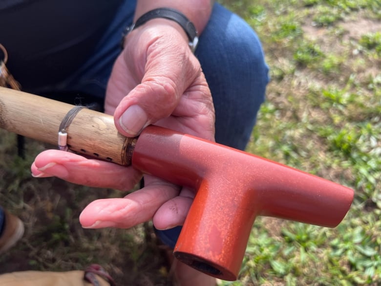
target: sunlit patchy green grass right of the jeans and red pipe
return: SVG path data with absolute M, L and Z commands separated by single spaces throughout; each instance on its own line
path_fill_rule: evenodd
M 381 284 L 380 1 L 230 1 L 263 41 L 272 82 L 248 151 L 355 190 L 334 229 L 259 218 L 240 280 Z M 240 4 L 239 4 L 240 3 Z

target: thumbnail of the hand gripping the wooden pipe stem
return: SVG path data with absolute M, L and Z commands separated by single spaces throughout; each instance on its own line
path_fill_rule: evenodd
M 147 114 L 138 105 L 131 105 L 122 114 L 119 119 L 119 124 L 124 131 L 132 136 L 139 134 L 139 132 L 147 125 Z

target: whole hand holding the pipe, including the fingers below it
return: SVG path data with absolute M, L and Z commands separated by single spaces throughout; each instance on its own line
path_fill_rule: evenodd
M 148 23 L 128 35 L 115 62 L 107 88 L 106 113 L 114 112 L 115 125 L 126 136 L 136 136 L 155 124 L 214 140 L 212 97 L 184 32 L 167 20 Z M 41 176 L 120 190 L 130 189 L 139 177 L 132 167 L 70 153 L 60 156 L 60 151 L 40 154 L 32 166 L 34 176 L 42 172 Z M 50 167 L 50 163 L 57 164 Z M 59 174 L 55 170 L 58 166 L 67 172 Z M 184 222 L 193 196 L 189 188 L 146 175 L 143 189 L 125 198 L 90 203 L 80 221 L 84 227 L 128 228 L 153 219 L 157 228 L 166 229 Z

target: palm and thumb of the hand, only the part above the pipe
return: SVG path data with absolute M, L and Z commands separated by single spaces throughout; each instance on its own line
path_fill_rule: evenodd
M 208 84 L 185 32 L 169 20 L 151 20 L 127 36 L 108 82 L 105 110 L 114 113 L 126 136 L 155 124 L 214 140 Z

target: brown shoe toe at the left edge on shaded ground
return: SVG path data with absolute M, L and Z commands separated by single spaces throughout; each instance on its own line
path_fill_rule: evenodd
M 24 234 L 24 224 L 22 221 L 4 211 L 4 226 L 0 236 L 0 254 L 7 251 L 18 242 Z

